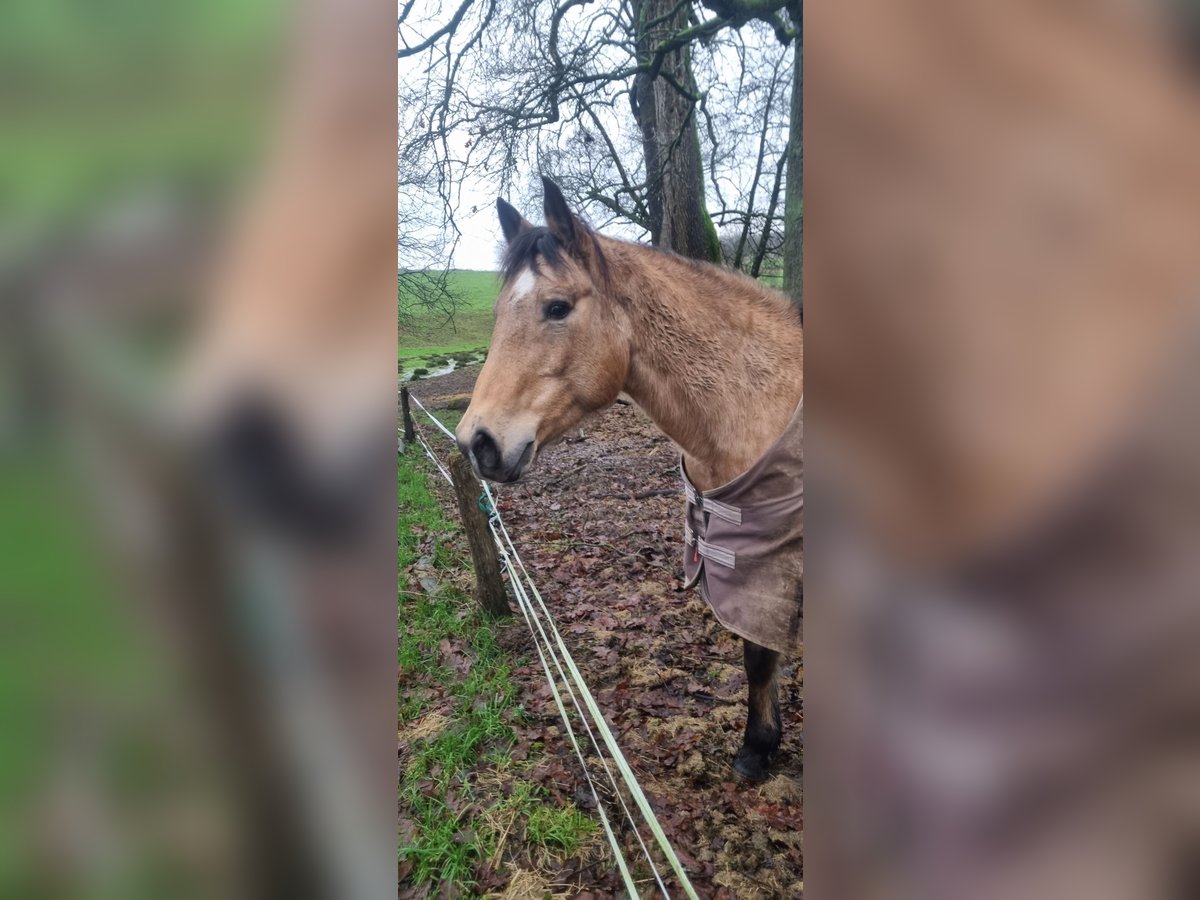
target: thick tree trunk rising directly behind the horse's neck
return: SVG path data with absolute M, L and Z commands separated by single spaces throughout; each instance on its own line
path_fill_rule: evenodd
M 656 44 L 688 26 L 686 8 L 677 10 L 672 16 L 674 7 L 674 0 L 635 0 L 641 61 L 649 62 Z M 664 22 L 644 28 L 660 18 Z M 660 74 L 653 82 L 646 74 L 640 76 L 634 92 L 635 115 L 642 130 L 646 155 L 650 240 L 692 259 L 720 263 L 721 246 L 704 206 L 704 167 L 696 128 L 696 104 L 686 96 L 696 94 L 690 48 L 668 53 L 662 60 Z M 658 234 L 653 227 L 656 212 L 661 218 Z

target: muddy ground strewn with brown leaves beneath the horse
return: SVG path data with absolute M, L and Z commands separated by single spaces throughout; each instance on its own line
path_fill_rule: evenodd
M 440 406 L 469 391 L 476 374 L 472 367 L 410 386 L 426 406 Z M 774 776 L 749 785 L 730 764 L 745 722 L 742 642 L 697 592 L 683 589 L 674 445 L 636 407 L 617 404 L 580 436 L 542 451 L 527 481 L 497 496 L 700 895 L 799 896 L 802 667 L 791 660 L 784 668 L 785 733 Z M 508 635 L 514 649 L 529 640 L 523 623 Z M 534 778 L 590 809 L 540 665 L 534 660 L 515 674 L 534 714 L 520 740 L 545 740 L 550 751 Z M 632 834 L 624 840 L 628 858 L 636 858 Z M 559 883 L 577 886 L 570 895 L 596 898 L 620 886 L 616 871 L 595 869 L 562 872 Z

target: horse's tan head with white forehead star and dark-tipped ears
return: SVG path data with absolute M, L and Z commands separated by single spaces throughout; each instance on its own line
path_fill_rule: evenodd
M 610 406 L 629 372 L 629 320 L 596 235 L 542 179 L 546 226 L 497 200 L 508 248 L 496 328 L 458 446 L 492 481 L 516 481 L 538 449 Z

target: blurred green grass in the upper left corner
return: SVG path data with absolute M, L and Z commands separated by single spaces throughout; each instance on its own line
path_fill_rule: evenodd
M 275 0 L 7 5 L 6 217 L 36 234 L 131 185 L 228 186 L 263 132 L 283 12 Z

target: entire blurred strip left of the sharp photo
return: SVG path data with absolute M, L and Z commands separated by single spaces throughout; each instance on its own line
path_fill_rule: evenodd
M 0 12 L 2 896 L 392 889 L 392 22 Z

